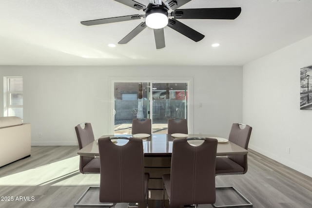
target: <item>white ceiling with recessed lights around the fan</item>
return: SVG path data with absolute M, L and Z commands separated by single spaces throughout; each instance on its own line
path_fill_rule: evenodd
M 166 47 L 156 50 L 150 28 L 117 44 L 144 19 L 80 24 L 144 14 L 114 0 L 0 0 L 0 65 L 241 66 L 312 36 L 312 0 L 192 0 L 180 9 L 214 7 L 242 12 L 234 20 L 181 19 L 205 38 L 194 42 L 165 27 Z

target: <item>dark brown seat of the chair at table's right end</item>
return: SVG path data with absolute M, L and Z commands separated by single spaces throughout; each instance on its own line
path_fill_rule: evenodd
M 244 168 L 227 157 L 217 157 L 215 160 L 215 174 L 244 172 Z

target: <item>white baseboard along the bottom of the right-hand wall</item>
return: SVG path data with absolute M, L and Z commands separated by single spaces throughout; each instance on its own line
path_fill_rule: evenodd
M 253 145 L 249 145 L 248 146 L 249 149 L 253 150 L 253 151 L 256 151 L 256 152 L 259 152 L 260 154 L 263 154 L 264 156 L 266 157 L 269 157 L 285 166 L 288 166 L 289 168 L 292 168 L 293 170 L 297 170 L 309 177 L 312 177 L 312 170 L 311 169 L 308 169 L 302 165 L 299 165 L 295 162 L 292 162 L 290 160 L 286 160 L 285 158 L 282 158 L 281 156 L 279 155 L 276 155 L 276 154 L 273 154 L 272 152 L 268 152 L 266 150 L 263 150 L 261 148 L 257 148 Z

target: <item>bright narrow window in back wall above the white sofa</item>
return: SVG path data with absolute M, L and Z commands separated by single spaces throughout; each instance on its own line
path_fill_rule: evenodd
M 23 77 L 4 77 L 4 116 L 23 119 Z

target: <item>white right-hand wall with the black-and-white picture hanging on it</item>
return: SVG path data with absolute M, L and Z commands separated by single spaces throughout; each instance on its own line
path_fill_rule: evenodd
M 309 37 L 246 64 L 243 122 L 253 127 L 251 149 L 312 177 L 312 111 L 300 110 L 300 68 L 311 57 Z

